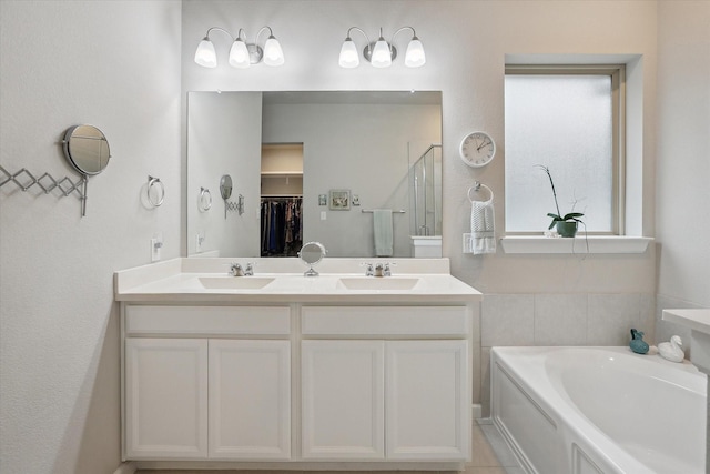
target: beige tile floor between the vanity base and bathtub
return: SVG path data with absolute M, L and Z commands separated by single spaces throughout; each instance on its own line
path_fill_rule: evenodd
M 466 463 L 465 471 L 458 474 L 525 474 L 508 445 L 489 418 L 477 420 L 471 436 L 471 461 Z M 136 474 L 204 474 L 216 471 L 146 471 Z M 325 474 L 325 471 L 219 471 L 220 474 Z M 435 471 L 339 471 L 336 474 L 457 474 L 456 472 Z

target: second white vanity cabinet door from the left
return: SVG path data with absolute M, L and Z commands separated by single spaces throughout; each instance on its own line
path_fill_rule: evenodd
M 288 341 L 210 341 L 210 457 L 291 457 Z

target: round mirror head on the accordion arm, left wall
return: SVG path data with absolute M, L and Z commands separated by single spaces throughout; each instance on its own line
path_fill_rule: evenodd
M 93 125 L 74 125 L 64 133 L 64 155 L 81 174 L 99 174 L 111 153 L 103 132 Z

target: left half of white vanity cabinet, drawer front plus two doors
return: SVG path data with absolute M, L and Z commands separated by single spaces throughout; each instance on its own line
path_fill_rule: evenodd
M 125 306 L 125 458 L 288 460 L 290 322 L 288 306 Z

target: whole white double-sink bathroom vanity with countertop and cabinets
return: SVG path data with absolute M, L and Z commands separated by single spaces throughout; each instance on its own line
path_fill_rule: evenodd
M 481 295 L 447 259 L 175 259 L 115 273 L 123 458 L 457 470 Z M 254 275 L 227 275 L 239 261 Z M 477 331 L 476 331 L 477 332 Z M 362 463 L 366 463 L 364 467 Z

